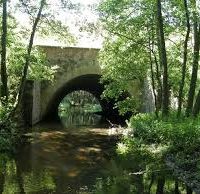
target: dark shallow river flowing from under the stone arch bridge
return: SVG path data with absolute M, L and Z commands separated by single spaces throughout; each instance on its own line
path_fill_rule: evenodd
M 165 165 L 144 166 L 145 153 L 120 159 L 118 131 L 109 125 L 99 115 L 73 111 L 60 122 L 27 129 L 28 141 L 16 154 L 0 155 L 0 193 L 155 194 L 162 175 L 164 193 L 175 193 L 178 182 L 178 193 L 186 193 L 185 184 Z M 144 172 L 149 168 L 154 171 Z

